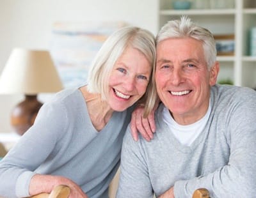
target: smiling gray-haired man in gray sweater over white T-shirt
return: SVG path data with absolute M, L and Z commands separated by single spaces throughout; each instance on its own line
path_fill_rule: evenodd
M 117 197 L 255 197 L 256 92 L 216 84 L 219 67 L 212 34 L 188 17 L 159 31 L 156 133 L 125 134 Z

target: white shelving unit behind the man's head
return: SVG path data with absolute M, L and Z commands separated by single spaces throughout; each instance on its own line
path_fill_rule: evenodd
M 192 7 L 189 10 L 173 10 L 172 1 L 159 0 L 159 29 L 168 20 L 180 19 L 181 15 L 188 15 L 196 24 L 206 27 L 212 34 L 234 34 L 234 56 L 218 56 L 220 61 L 218 80 L 230 79 L 237 86 L 256 88 L 256 57 L 248 56 L 249 31 L 252 27 L 256 27 L 256 1 L 231 0 L 233 6 L 228 6 L 230 8 Z M 196 0 L 190 1 L 193 3 Z

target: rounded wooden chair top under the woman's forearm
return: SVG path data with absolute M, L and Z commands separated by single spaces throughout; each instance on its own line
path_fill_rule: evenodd
M 68 198 L 70 188 L 66 185 L 58 185 L 53 188 L 51 194 L 42 193 L 29 198 Z

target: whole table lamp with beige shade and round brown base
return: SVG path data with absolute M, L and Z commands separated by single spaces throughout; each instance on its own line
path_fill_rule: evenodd
M 0 77 L 0 94 L 22 93 L 25 100 L 11 113 L 11 125 L 23 135 L 33 125 L 42 106 L 38 93 L 52 93 L 63 88 L 60 77 L 46 50 L 13 49 Z

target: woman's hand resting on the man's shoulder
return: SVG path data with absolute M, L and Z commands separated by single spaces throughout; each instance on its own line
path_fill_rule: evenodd
M 147 141 L 153 139 L 153 133 L 156 131 L 154 113 L 156 108 L 148 115 L 148 118 L 143 118 L 144 107 L 138 106 L 132 112 L 131 132 L 134 141 L 138 141 L 138 132 Z

